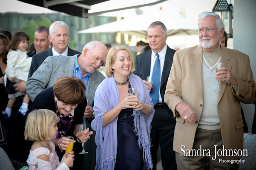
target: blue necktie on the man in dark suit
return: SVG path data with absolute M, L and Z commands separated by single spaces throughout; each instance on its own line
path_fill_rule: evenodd
M 156 55 L 156 59 L 155 59 L 155 65 L 153 68 L 153 73 L 152 73 L 153 88 L 151 89 L 151 92 L 150 92 L 150 97 L 152 98 L 152 103 L 154 104 L 154 106 L 159 101 L 159 87 L 160 87 L 160 59 L 158 54 L 155 54 L 155 55 Z

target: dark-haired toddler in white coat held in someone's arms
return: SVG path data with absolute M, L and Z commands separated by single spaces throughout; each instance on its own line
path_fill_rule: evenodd
M 4 77 L 6 86 L 7 79 L 11 82 L 19 82 L 20 80 L 27 81 L 29 76 L 29 68 L 31 65 L 32 57 L 27 56 L 27 49 L 29 48 L 29 36 L 25 32 L 16 32 L 7 46 L 9 53 L 7 54 L 7 68 Z M 25 95 L 22 106 L 19 112 L 23 115 L 28 111 L 29 96 L 20 91 L 14 94 L 9 94 L 9 101 L 3 115 L 6 117 L 7 122 L 10 120 L 12 107 L 18 96 Z

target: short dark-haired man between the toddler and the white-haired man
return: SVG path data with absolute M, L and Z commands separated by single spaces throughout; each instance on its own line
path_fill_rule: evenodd
M 46 26 L 39 26 L 35 30 L 34 47 L 35 51 L 28 52 L 29 57 L 33 57 L 35 54 L 39 54 L 49 49 L 49 28 Z

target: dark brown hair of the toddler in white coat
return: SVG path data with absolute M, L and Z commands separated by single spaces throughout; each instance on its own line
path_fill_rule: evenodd
M 29 41 L 29 36 L 25 32 L 18 31 L 15 34 L 13 34 L 9 45 L 7 46 L 8 51 L 9 50 L 17 50 L 17 46 L 19 45 L 20 41 L 22 41 L 22 40 Z

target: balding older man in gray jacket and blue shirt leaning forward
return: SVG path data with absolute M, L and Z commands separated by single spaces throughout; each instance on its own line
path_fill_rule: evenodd
M 75 76 L 82 79 L 86 85 L 86 98 L 88 99 L 88 103 L 84 117 L 92 118 L 94 94 L 98 85 L 105 79 L 104 75 L 98 71 L 98 68 L 100 68 L 105 61 L 107 53 L 107 48 L 102 42 L 92 41 L 84 46 L 81 55 L 76 54 L 72 57 L 47 57 L 32 77 L 26 82 L 26 91 L 30 99 L 34 101 L 37 94 L 53 86 L 59 77 Z M 89 125 L 88 123 L 91 121 L 92 119 L 86 119 L 87 127 Z M 95 142 L 91 139 L 86 143 L 87 146 L 89 146 L 87 147 L 88 149 L 95 148 L 95 150 L 92 149 L 91 152 L 89 151 L 88 154 L 90 155 L 87 156 L 89 160 L 86 160 L 90 161 L 90 166 L 95 169 Z

